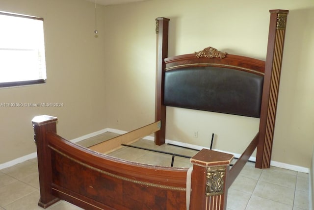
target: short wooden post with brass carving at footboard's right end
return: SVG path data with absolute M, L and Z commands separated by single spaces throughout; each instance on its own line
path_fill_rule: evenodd
M 193 164 L 190 210 L 225 210 L 227 178 L 233 155 L 203 149 L 191 158 Z

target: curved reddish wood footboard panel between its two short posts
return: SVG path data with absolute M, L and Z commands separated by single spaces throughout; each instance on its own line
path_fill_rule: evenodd
M 52 192 L 83 208 L 133 210 L 182 208 L 186 169 L 148 166 L 100 155 L 73 145 L 55 133 L 48 134 L 52 149 Z M 75 199 L 79 195 L 79 199 Z M 143 199 L 145 195 L 145 199 Z M 173 208 L 175 209 L 175 208 Z

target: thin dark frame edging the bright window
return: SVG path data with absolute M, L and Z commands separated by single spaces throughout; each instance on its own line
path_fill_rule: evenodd
M 17 13 L 11 13 L 11 12 L 0 11 L 0 15 L 7 15 L 7 16 L 13 16 L 13 17 L 19 17 L 19 18 L 28 18 L 28 19 L 39 20 L 39 21 L 44 22 L 44 18 L 40 18 L 40 17 L 36 17 L 36 16 L 23 15 L 23 14 L 17 14 Z M 44 45 L 45 45 L 45 43 L 44 43 Z M 45 65 L 46 65 L 46 61 L 45 61 Z M 47 69 L 45 69 L 45 71 L 47 72 Z M 23 80 L 23 81 L 0 82 L 0 88 L 24 86 L 24 85 L 32 85 L 32 84 L 43 84 L 43 83 L 46 83 L 46 80 L 47 79 L 31 79 L 31 80 Z

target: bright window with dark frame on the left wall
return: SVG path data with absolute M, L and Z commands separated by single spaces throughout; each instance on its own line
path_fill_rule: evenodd
M 0 12 L 0 87 L 46 79 L 43 18 Z

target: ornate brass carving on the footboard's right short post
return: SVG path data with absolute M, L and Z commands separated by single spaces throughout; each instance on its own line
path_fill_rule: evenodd
M 206 196 L 224 193 L 225 167 L 206 169 Z

